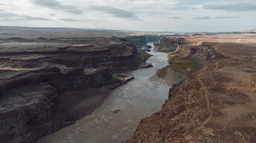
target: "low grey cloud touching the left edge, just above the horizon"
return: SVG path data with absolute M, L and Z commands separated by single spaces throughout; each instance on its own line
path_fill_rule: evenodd
M 45 17 L 35 17 L 35 16 L 29 16 L 29 15 L 18 15 L 15 13 L 8 13 L 8 12 L 0 12 L 0 17 L 2 19 L 15 19 L 15 20 L 44 20 L 44 21 L 50 21 L 52 19 L 45 18 Z

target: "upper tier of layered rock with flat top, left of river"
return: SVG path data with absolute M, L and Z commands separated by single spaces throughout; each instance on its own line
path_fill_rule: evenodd
M 33 42 L 3 42 L 0 63 L 10 68 L 123 67 L 136 66 L 136 47 L 119 38 L 53 39 Z M 66 43 L 63 43 L 66 42 Z M 83 44 L 78 44 L 83 43 Z M 15 48 L 13 48 L 15 46 Z

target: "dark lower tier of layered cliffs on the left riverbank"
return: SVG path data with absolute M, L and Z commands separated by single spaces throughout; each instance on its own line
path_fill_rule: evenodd
M 100 88 L 118 82 L 107 68 L 74 68 L 66 73 L 44 69 L 2 81 L 0 84 L 5 90 L 0 102 L 0 140 L 4 142 L 17 136 L 22 138 L 34 129 L 41 130 L 38 126 L 53 120 L 58 108 L 57 100 L 63 92 Z

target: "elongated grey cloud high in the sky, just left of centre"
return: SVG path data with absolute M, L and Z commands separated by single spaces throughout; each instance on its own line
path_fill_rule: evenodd
M 129 12 L 126 10 L 122 10 L 119 8 L 115 8 L 112 6 L 91 6 L 91 10 L 101 11 L 104 13 L 111 14 L 115 17 L 121 17 L 121 18 L 130 18 L 130 19 L 138 19 L 137 16 L 135 16 L 135 13 Z

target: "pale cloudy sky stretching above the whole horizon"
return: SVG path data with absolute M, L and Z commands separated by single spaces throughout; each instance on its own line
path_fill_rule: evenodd
M 243 31 L 256 28 L 256 1 L 1 0 L 0 25 L 165 32 Z

